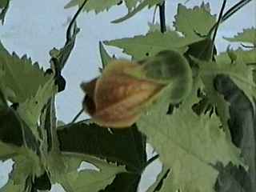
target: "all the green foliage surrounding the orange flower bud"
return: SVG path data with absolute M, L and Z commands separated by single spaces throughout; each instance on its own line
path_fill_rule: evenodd
M 74 0 L 66 7 L 82 2 Z M 89 1 L 85 9 L 99 12 L 118 2 Z M 162 3 L 124 2 L 128 14 L 116 22 Z M 250 50 L 228 49 L 216 55 L 214 41 L 203 35 L 215 23 L 209 4 L 193 9 L 179 5 L 175 30 L 162 34 L 152 26 L 146 35 L 104 42 L 122 48 L 135 61 L 175 50 L 193 71 L 193 89 L 185 101 L 170 105 L 166 91 L 126 130 L 106 129 L 90 121 L 58 126 L 54 100 L 65 88 L 61 71 L 79 31 L 75 25 L 67 31 L 65 46 L 50 51 L 51 69 L 46 71 L 26 56 L 10 54 L 1 44 L 0 160 L 12 158 L 14 166 L 0 191 L 50 190 L 58 182 L 67 192 L 134 192 L 143 170 L 158 157 L 147 161 L 146 142 L 154 146 L 162 162 L 162 172 L 148 192 L 253 191 L 256 30 L 226 38 L 251 43 Z M 102 43 L 100 53 L 104 68 L 114 58 Z M 98 169 L 81 170 L 82 162 Z

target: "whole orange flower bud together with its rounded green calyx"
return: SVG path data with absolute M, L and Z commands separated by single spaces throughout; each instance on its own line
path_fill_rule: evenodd
M 174 51 L 167 51 L 160 52 L 140 64 L 126 60 L 113 60 L 102 71 L 100 77 L 94 78 L 90 82 L 83 82 L 81 87 L 86 93 L 83 107 L 90 114 L 92 121 L 105 127 L 129 127 L 138 120 L 146 106 L 158 98 L 162 90 L 170 86 L 170 82 L 184 78 L 183 70 L 186 70 L 185 76 L 188 76 L 190 80 L 192 74 L 190 69 L 187 69 L 190 66 L 186 59 L 178 60 L 178 62 L 185 62 L 185 65 L 182 63 L 179 64 L 182 67 L 174 68 L 172 65 L 167 66 L 170 61 L 168 61 L 168 57 L 166 60 L 166 54 L 169 56 L 172 54 L 173 59 L 182 57 L 181 54 Z M 175 61 L 177 62 L 177 59 Z M 166 72 L 166 70 L 173 70 L 176 74 L 171 77 L 170 71 Z M 180 82 L 176 81 L 175 85 L 171 84 L 174 89 L 170 90 L 175 91 L 176 89 L 180 92 L 180 85 L 178 85 Z M 182 82 L 184 81 L 182 80 Z M 186 90 L 190 90 L 189 86 Z M 172 99 L 174 102 L 178 102 L 183 97 L 177 93 L 172 95 L 170 102 Z

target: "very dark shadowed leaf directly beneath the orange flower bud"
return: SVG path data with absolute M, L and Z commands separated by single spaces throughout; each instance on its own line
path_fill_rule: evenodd
M 126 165 L 130 172 L 117 174 L 114 182 L 102 191 L 134 192 L 138 189 L 141 177 L 138 173 L 146 166 L 146 138 L 137 128 L 110 132 L 95 124 L 77 122 L 59 127 L 58 138 L 62 151 L 92 154 Z

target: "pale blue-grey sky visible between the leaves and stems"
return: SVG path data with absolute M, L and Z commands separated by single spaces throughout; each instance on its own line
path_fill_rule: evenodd
M 41 66 L 49 66 L 49 50 L 54 46 L 60 48 L 65 43 L 66 27 L 69 18 L 76 12 L 77 7 L 65 10 L 63 7 L 69 0 L 12 0 L 10 9 L 6 15 L 4 26 L 0 26 L 0 39 L 10 52 L 18 55 L 27 54 L 33 61 L 38 61 Z M 174 14 L 176 14 L 178 2 L 186 0 L 166 1 L 166 24 L 172 26 Z M 200 5 L 202 1 L 190 0 L 186 6 Z M 212 13 L 218 14 L 222 5 L 221 0 L 211 0 Z M 234 5 L 238 0 L 229 0 L 226 8 Z M 115 18 L 126 14 L 124 6 L 115 6 L 110 11 L 100 14 L 81 14 L 78 17 L 78 27 L 81 29 L 70 59 L 68 60 L 63 76 L 66 78 L 66 90 L 58 95 L 58 118 L 63 122 L 70 122 L 74 115 L 81 109 L 83 98 L 80 83 L 89 81 L 98 75 L 98 67 L 101 59 L 98 51 L 98 42 L 115 38 L 133 37 L 138 34 L 146 34 L 148 22 L 152 22 L 154 8 L 143 10 L 120 24 L 111 24 Z M 158 14 L 157 14 L 158 15 Z M 158 17 L 156 18 L 158 21 Z M 241 11 L 230 18 L 218 30 L 218 50 L 226 50 L 229 45 L 222 36 L 230 37 L 243 28 L 256 26 L 256 1 L 253 0 Z M 122 51 L 112 47 L 106 47 L 111 54 L 123 57 Z M 82 116 L 81 118 L 85 118 Z M 146 170 L 147 174 L 142 178 L 139 191 L 145 191 L 146 187 L 154 181 L 154 174 L 160 169 L 159 162 L 154 162 Z M 11 170 L 11 162 L 0 162 L 0 186 L 4 185 Z M 150 173 L 150 174 L 148 174 Z M 58 187 L 52 189 L 60 192 Z

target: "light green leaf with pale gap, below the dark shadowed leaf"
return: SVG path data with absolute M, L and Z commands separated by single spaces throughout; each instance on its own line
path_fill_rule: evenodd
M 67 192 L 98 192 L 113 182 L 116 174 L 126 172 L 124 166 L 117 166 L 90 155 L 63 154 L 62 161 L 65 163 L 66 171 L 59 173 L 55 182 L 60 183 Z M 78 166 L 83 161 L 93 164 L 98 170 L 79 171 Z M 54 165 L 56 162 L 50 167 L 50 172 L 54 169 Z

